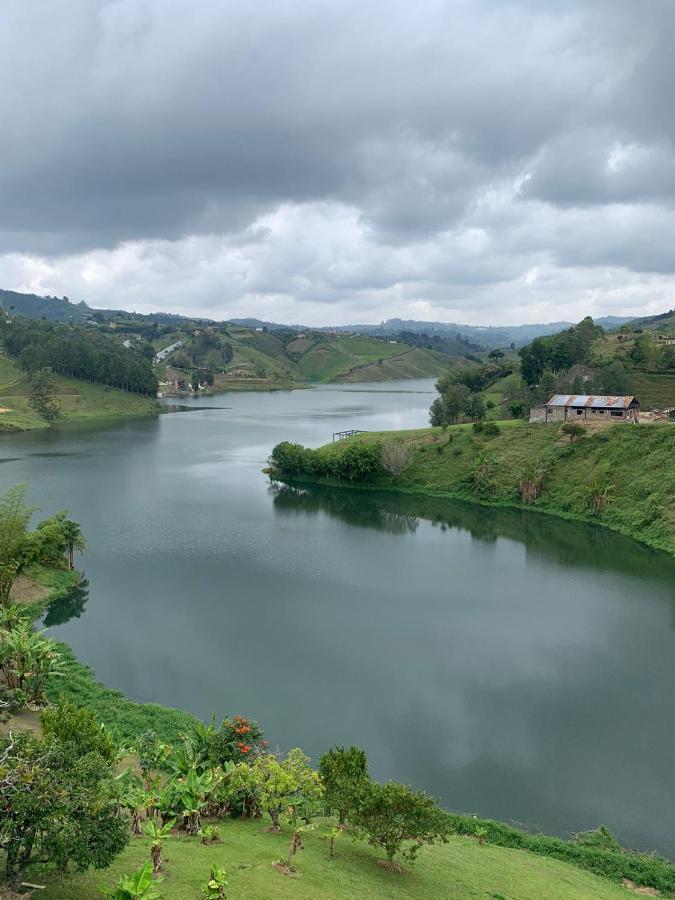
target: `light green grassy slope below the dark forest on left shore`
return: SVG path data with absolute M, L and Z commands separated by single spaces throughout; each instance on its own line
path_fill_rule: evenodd
M 110 420 L 151 415 L 155 402 L 132 394 L 76 378 L 55 376 L 62 422 Z M 46 428 L 47 423 L 28 405 L 28 383 L 11 359 L 0 356 L 0 432 Z

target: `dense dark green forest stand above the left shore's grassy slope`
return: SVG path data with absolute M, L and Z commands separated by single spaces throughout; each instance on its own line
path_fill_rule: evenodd
M 126 350 L 92 328 L 0 316 L 0 337 L 8 355 L 28 375 L 51 369 L 60 375 L 155 396 L 151 360 Z

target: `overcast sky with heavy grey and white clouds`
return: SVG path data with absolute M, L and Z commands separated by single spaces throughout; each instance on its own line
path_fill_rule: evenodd
M 307 324 L 675 306 L 673 0 L 3 0 L 0 287 Z

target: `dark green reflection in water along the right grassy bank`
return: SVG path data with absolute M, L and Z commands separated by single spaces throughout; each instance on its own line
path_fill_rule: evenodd
M 445 529 L 468 532 L 493 543 L 508 538 L 528 556 L 569 568 L 619 572 L 675 585 L 675 560 L 606 528 L 557 519 L 524 509 L 480 506 L 461 500 L 324 485 L 273 485 L 274 508 L 281 513 L 317 514 L 393 534 L 415 531 L 420 519 Z

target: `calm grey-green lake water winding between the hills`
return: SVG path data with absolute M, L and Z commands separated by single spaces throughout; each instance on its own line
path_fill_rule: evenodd
M 273 488 L 271 447 L 426 424 L 432 382 L 226 394 L 0 440 L 68 508 L 88 599 L 52 633 L 138 700 L 255 716 L 455 810 L 675 846 L 675 563 L 544 516 Z M 208 407 L 208 408 L 207 408 Z M 84 605 L 82 601 L 86 599 Z

